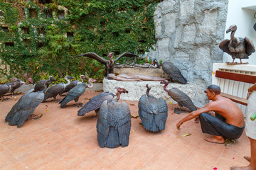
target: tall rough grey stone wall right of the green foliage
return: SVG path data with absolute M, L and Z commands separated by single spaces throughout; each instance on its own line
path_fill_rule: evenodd
M 154 12 L 156 40 L 149 58 L 173 62 L 196 84 L 197 106 L 207 102 L 213 62 L 222 62 L 228 0 L 164 0 Z

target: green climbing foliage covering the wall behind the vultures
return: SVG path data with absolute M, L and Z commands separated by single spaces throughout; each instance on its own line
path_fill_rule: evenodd
M 104 65 L 97 60 L 73 56 L 95 52 L 107 59 L 109 52 L 113 52 L 114 57 L 126 51 L 144 54 L 155 43 L 156 4 L 157 1 L 149 0 L 55 0 L 46 5 L 24 0 L 0 1 L 4 23 L 9 27 L 9 33 L 0 30 L 0 59 L 5 66 L 0 69 L 0 75 L 19 79 L 33 77 L 34 81 L 53 75 L 59 82 L 65 81 L 67 74 L 79 78 L 87 72 L 101 81 Z M 58 6 L 68 9 L 65 18 L 58 19 Z M 37 17 L 32 17 L 31 9 Z M 46 17 L 49 11 L 55 15 Z M 21 13 L 26 14 L 21 16 Z M 14 42 L 14 45 L 8 46 L 5 42 Z M 123 57 L 118 62 L 142 64 L 146 61 Z

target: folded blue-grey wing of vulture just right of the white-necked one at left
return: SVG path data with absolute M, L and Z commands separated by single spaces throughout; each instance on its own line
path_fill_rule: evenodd
M 79 98 L 85 92 L 86 84 L 78 84 L 73 89 L 68 91 L 68 94 L 63 98 L 60 103 L 61 107 L 65 106 L 68 102 Z

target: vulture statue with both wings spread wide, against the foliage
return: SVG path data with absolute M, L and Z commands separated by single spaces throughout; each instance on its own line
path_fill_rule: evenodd
M 81 57 L 81 56 L 89 57 L 89 58 L 97 60 L 101 64 L 105 64 L 105 66 L 106 66 L 105 76 L 107 76 L 107 74 L 113 73 L 114 63 L 117 62 L 117 60 L 119 60 L 121 57 L 137 57 L 137 55 L 132 54 L 132 52 L 124 52 L 122 55 L 120 55 L 119 57 L 117 57 L 114 60 L 113 60 L 112 52 L 110 52 L 110 54 L 107 56 L 110 58 L 110 60 L 105 60 L 104 58 L 100 57 L 99 55 L 95 54 L 94 52 L 87 52 L 85 54 L 77 55 L 75 57 Z

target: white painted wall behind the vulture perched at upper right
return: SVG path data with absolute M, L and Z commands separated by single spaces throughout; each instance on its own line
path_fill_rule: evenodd
M 256 47 L 256 31 L 253 29 L 256 23 L 254 15 L 256 13 L 256 0 L 229 0 L 228 1 L 228 15 L 226 22 L 226 30 L 229 26 L 235 24 L 238 30 L 235 32 L 235 37 L 250 38 Z M 230 33 L 225 33 L 225 39 L 230 39 Z M 230 55 L 224 52 L 223 62 L 232 62 Z M 236 59 L 235 62 L 240 62 Z M 244 59 L 242 62 L 249 62 L 249 64 L 256 64 L 256 52 L 249 56 L 249 59 Z

